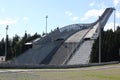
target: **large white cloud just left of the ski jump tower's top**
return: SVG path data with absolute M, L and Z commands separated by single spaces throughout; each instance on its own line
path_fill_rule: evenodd
M 92 10 L 89 10 L 85 13 L 84 17 L 81 19 L 82 21 L 85 21 L 85 20 L 88 20 L 89 18 L 91 17 L 98 17 L 98 16 L 101 16 L 101 14 L 104 12 L 103 9 L 92 9 Z

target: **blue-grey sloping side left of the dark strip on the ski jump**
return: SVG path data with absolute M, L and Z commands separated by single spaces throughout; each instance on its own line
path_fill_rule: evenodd
M 47 45 L 35 47 L 29 49 L 16 59 L 12 61 L 12 63 L 16 64 L 40 64 L 48 54 L 54 51 L 54 49 L 59 46 L 62 42 L 56 41 L 51 42 Z M 48 46 L 49 45 L 49 46 Z

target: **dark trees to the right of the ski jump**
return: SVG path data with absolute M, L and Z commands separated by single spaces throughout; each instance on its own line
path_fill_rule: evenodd
M 101 32 L 101 61 L 109 62 L 109 61 L 119 61 L 120 60 L 120 27 L 117 27 L 117 30 L 113 32 L 112 30 Z M 90 62 L 98 62 L 99 61 L 99 38 L 94 42 L 91 55 Z

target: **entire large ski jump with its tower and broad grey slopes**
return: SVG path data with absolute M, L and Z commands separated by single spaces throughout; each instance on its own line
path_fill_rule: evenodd
M 33 47 L 11 63 L 40 65 L 87 64 L 93 42 L 99 37 L 114 8 L 106 8 L 100 18 L 89 24 L 71 24 L 57 28 L 34 41 Z

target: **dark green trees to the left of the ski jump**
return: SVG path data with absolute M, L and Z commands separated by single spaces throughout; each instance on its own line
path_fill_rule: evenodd
M 35 40 L 36 38 L 41 37 L 41 35 L 35 33 L 30 35 L 25 33 L 23 37 L 15 35 L 12 39 L 7 35 L 6 39 L 0 41 L 0 56 L 5 56 L 5 44 L 7 41 L 7 60 L 19 56 L 29 48 L 25 46 L 25 43 Z

